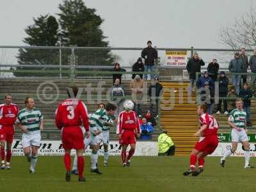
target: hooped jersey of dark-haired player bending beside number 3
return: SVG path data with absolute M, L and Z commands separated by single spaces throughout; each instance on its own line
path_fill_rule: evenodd
M 108 115 L 106 109 L 98 109 L 93 113 L 90 118 L 90 129 L 92 131 L 95 131 L 98 129 L 99 131 L 102 131 L 104 129 L 104 122 L 108 120 Z

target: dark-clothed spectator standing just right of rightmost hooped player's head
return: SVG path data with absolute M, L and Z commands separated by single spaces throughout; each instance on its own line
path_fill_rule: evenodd
M 251 98 L 252 98 L 252 90 L 250 90 L 248 83 L 244 83 L 243 89 L 239 92 L 239 97 L 243 99 L 244 102 L 244 110 L 246 111 L 246 125 L 248 127 L 252 127 L 250 122 L 250 108 L 251 108 Z

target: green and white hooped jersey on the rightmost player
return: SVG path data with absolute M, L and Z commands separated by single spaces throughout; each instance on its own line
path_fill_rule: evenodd
M 246 124 L 246 112 L 244 109 L 241 111 L 239 109 L 231 111 L 230 116 L 228 117 L 228 122 L 232 122 L 236 127 L 244 129 Z

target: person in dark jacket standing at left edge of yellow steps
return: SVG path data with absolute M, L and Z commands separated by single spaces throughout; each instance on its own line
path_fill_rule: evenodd
M 150 97 L 150 113 L 153 113 L 154 106 L 156 106 L 156 116 L 159 112 L 159 99 L 163 93 L 163 86 L 159 83 L 158 77 L 155 78 L 155 81 L 152 81 L 150 87 L 148 88 L 148 96 Z

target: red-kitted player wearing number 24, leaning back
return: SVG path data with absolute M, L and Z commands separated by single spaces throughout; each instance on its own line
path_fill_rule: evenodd
M 204 170 L 204 157 L 212 154 L 218 147 L 218 122 L 214 116 L 207 113 L 207 105 L 202 104 L 198 106 L 197 113 L 200 116 L 200 129 L 194 134 L 194 136 L 200 136 L 199 141 L 196 143 L 194 149 L 190 155 L 190 168 L 183 175 L 193 176 L 199 175 Z M 195 168 L 196 161 L 198 159 L 198 170 Z

